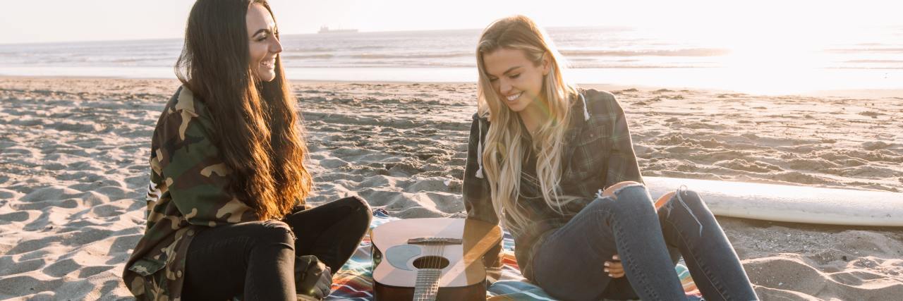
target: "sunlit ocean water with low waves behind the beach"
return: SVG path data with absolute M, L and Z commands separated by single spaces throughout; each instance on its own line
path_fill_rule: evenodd
M 903 88 L 903 27 L 740 44 L 747 40 L 622 27 L 547 32 L 568 60 L 569 78 L 582 84 L 758 93 Z M 286 34 L 282 56 L 293 80 L 474 82 L 478 39 L 479 30 Z M 0 75 L 174 78 L 181 49 L 181 39 L 0 44 Z

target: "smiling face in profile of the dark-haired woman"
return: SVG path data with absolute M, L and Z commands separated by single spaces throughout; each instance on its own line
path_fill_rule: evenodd
M 246 21 L 251 71 L 258 80 L 271 81 L 276 77 L 276 56 L 282 52 L 273 15 L 264 5 L 254 4 L 247 8 Z

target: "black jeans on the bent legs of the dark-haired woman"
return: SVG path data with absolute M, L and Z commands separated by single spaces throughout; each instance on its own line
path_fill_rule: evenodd
M 182 299 L 295 300 L 295 256 L 315 255 L 337 272 L 357 249 L 371 218 L 367 202 L 352 196 L 282 221 L 201 231 L 188 249 Z

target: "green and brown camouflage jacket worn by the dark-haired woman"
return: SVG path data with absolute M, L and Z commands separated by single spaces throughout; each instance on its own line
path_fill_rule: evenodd
M 178 300 L 192 237 L 223 223 L 256 221 L 229 192 L 230 170 L 210 139 L 209 111 L 186 87 L 166 104 L 151 141 L 147 227 L 123 280 L 139 300 Z

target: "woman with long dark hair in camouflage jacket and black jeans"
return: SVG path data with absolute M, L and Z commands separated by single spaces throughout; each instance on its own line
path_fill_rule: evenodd
M 192 7 L 123 273 L 139 299 L 322 298 L 366 233 L 358 197 L 305 210 L 312 177 L 281 51 L 265 0 Z

